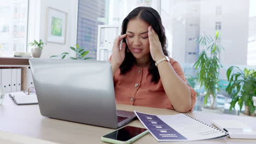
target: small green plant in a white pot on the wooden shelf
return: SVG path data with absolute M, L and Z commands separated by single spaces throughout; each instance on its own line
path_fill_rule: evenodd
M 41 56 L 44 44 L 46 43 L 44 43 L 42 39 L 40 39 L 39 41 L 34 40 L 33 42 L 28 43 L 28 45 L 34 46 L 34 48 L 31 49 L 32 57 L 39 58 Z

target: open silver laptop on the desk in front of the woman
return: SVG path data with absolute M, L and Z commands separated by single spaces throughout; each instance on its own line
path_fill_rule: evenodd
M 114 129 L 136 117 L 116 110 L 109 62 L 39 58 L 29 62 L 43 116 Z

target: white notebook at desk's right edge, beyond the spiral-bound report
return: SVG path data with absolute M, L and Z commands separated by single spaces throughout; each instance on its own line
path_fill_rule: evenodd
M 228 132 L 231 139 L 256 139 L 256 128 L 236 120 L 212 120 L 213 124 Z

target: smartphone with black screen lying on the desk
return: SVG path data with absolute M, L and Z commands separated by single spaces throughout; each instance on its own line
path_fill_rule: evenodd
M 103 137 L 106 137 L 108 139 L 118 140 L 118 141 L 127 141 L 127 140 L 132 139 L 132 137 L 135 137 L 135 136 L 143 133 L 146 130 L 147 129 L 126 126 L 124 128 L 115 130 L 112 133 L 104 135 Z

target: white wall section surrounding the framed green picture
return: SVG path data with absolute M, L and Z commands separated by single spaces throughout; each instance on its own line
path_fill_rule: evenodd
M 71 53 L 70 46 L 77 43 L 77 14 L 78 14 L 78 0 L 41 0 L 40 1 L 40 22 L 39 22 L 39 39 L 43 41 L 46 31 L 46 11 L 47 8 L 55 8 L 67 13 L 66 26 L 66 44 L 55 44 L 46 41 L 40 58 L 49 58 L 53 55 L 60 55 L 62 52 Z M 72 52 L 72 55 L 74 53 Z

